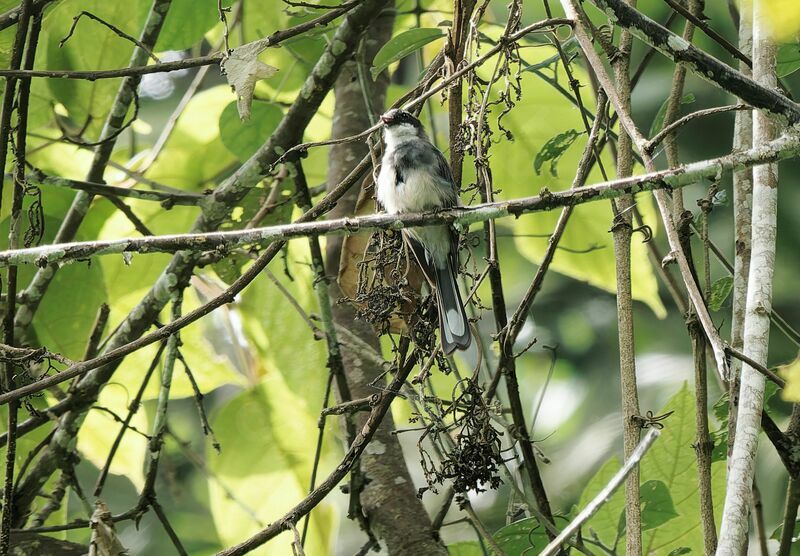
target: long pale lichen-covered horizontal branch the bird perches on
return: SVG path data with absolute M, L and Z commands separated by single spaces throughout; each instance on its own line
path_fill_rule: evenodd
M 85 259 L 91 256 L 114 253 L 175 253 L 182 250 L 199 252 L 229 249 L 242 245 L 268 244 L 276 240 L 288 240 L 309 235 L 348 234 L 370 229 L 401 230 L 408 227 L 438 224 L 459 224 L 467 227 L 475 222 L 485 222 L 508 216 L 519 217 L 526 213 L 547 211 L 557 207 L 576 206 L 602 199 L 614 199 L 622 195 L 635 194 L 642 191 L 681 188 L 694 184 L 703 178 L 715 178 L 720 172 L 731 171 L 742 166 L 767 164 L 795 156 L 798 153 L 800 153 L 800 137 L 784 135 L 765 145 L 754 147 L 744 152 L 731 153 L 678 168 L 601 182 L 576 190 L 551 193 L 545 189 L 539 195 L 511 201 L 484 203 L 435 213 L 376 214 L 318 222 L 297 222 L 230 232 L 174 234 L 44 245 L 28 249 L 1 251 L 0 267 L 24 263 L 33 263 L 41 266 L 47 263 Z M 2 396 L 0 396 L 0 399 L 2 399 Z

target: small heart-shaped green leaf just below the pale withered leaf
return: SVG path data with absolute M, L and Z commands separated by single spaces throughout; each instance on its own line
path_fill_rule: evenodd
M 236 103 L 232 102 L 219 117 L 219 136 L 225 148 L 244 161 L 269 139 L 283 118 L 283 111 L 274 104 L 256 102 L 250 119 L 242 121 Z

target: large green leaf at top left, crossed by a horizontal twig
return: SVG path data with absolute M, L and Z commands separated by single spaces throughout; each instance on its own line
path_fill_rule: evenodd
M 130 62 L 133 44 L 117 36 L 96 21 L 81 18 L 73 36 L 59 46 L 72 25 L 72 18 L 82 10 L 89 11 L 122 31 L 138 37 L 147 10 L 152 2 L 130 0 L 63 0 L 49 12 L 42 29 L 37 62 L 41 67 L 57 70 L 118 69 Z M 89 124 L 86 136 L 98 135 L 112 101 L 119 89 L 118 79 L 87 81 L 81 79 L 48 79 L 53 97 L 69 112 L 77 128 Z

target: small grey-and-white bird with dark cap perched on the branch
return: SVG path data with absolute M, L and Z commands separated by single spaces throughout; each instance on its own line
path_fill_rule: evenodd
M 384 141 L 378 201 L 389 214 L 427 212 L 459 204 L 453 175 L 442 152 L 409 112 L 394 108 L 381 116 Z M 467 349 L 469 321 L 456 285 L 458 242 L 449 225 L 403 230 L 407 243 L 435 289 L 442 350 Z

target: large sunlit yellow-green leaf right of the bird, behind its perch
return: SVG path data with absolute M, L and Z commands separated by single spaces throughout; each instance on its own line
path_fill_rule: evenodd
M 531 54 L 532 56 L 541 59 L 555 53 L 554 50 L 545 47 L 531 52 L 535 53 Z M 486 66 L 491 68 L 493 63 L 489 62 Z M 588 83 L 585 72 L 577 67 L 574 71 L 581 83 Z M 496 114 L 489 118 L 495 129 L 495 139 L 498 140 L 491 147 L 490 162 L 494 186 L 500 189 L 498 197 L 501 199 L 536 195 L 542 188 L 550 191 L 568 189 L 587 139 L 586 135 L 581 135 L 561 155 L 559 176 L 547 173 L 537 176 L 533 164 L 536 153 L 540 152 L 554 136 L 570 129 L 582 130 L 583 122 L 578 110 L 566 102 L 553 87 L 530 72 L 524 72 L 521 79 L 522 98 L 503 119 L 503 125 L 510 131 L 513 141 L 501 139 L 501 133 L 496 130 Z M 588 103 L 586 95 L 584 102 Z M 591 103 L 588 104 L 587 108 L 592 110 Z M 613 169 L 610 157 L 604 154 L 602 158 L 605 168 Z M 465 184 L 469 183 L 468 179 L 474 180 L 474 170 L 468 166 L 465 166 Z M 609 177 L 613 178 L 613 175 Z M 595 166 L 587 184 L 597 183 L 602 179 L 600 171 Z M 655 229 L 658 219 L 649 195 L 638 195 L 636 201 L 645 222 Z M 516 236 L 514 243 L 519 252 L 538 263 L 547 248 L 547 235 L 552 233 L 559 213 L 558 210 L 538 212 L 513 221 L 499 222 L 502 222 L 503 227 L 510 228 Z M 608 202 L 600 201 L 576 207 L 560 243 L 569 250 L 559 249 L 556 252 L 551 269 L 609 292 L 615 292 L 613 240 L 609 233 L 612 221 L 613 213 Z M 666 311 L 658 296 L 658 284 L 648 260 L 647 246 L 641 242 L 641 238 L 639 234 L 634 235 L 632 245 L 633 297 L 645 302 L 656 315 L 663 316 Z M 504 238 L 501 237 L 500 240 L 503 241 Z

